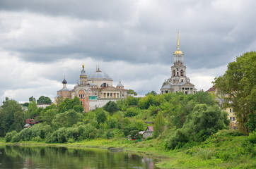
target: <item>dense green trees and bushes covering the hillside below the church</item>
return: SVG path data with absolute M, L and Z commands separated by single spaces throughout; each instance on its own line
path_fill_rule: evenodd
M 8 101 L 4 102 L 1 112 L 5 112 L 8 104 Z M 138 136 L 136 133 L 145 130 L 148 125 L 145 121 L 149 121 L 154 123 L 153 137 L 163 139 L 166 149 L 175 149 L 187 143 L 203 142 L 211 134 L 227 128 L 229 123 L 227 113 L 221 111 L 214 97 L 206 92 L 149 94 L 143 98 L 129 96 L 117 103 L 110 101 L 103 108 L 88 113 L 83 113 L 83 107 L 75 97 L 47 108 L 30 104 L 24 115 L 35 118 L 39 124 L 23 130 L 22 125 L 13 131 L 7 130 L 6 142 L 65 143 L 97 137 Z

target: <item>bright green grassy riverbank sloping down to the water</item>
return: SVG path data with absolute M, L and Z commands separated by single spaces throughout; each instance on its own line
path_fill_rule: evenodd
M 0 139 L 1 144 L 4 139 Z M 123 148 L 137 154 L 146 154 L 160 158 L 156 165 L 160 168 L 256 168 L 256 149 L 248 143 L 246 136 L 234 136 L 232 132 L 223 130 L 205 142 L 182 149 L 165 151 L 163 140 L 151 139 L 143 142 L 127 139 L 91 139 L 70 144 L 46 144 L 45 142 L 19 142 L 22 145 L 71 146 Z

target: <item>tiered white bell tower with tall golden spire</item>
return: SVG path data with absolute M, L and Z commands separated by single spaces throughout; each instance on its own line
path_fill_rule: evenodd
M 174 52 L 174 61 L 171 66 L 171 77 L 165 80 L 161 87 L 161 94 L 184 92 L 194 94 L 197 89 L 190 83 L 190 78 L 186 76 L 186 66 L 184 65 L 183 52 L 180 51 L 180 37 L 178 32 L 177 51 Z

